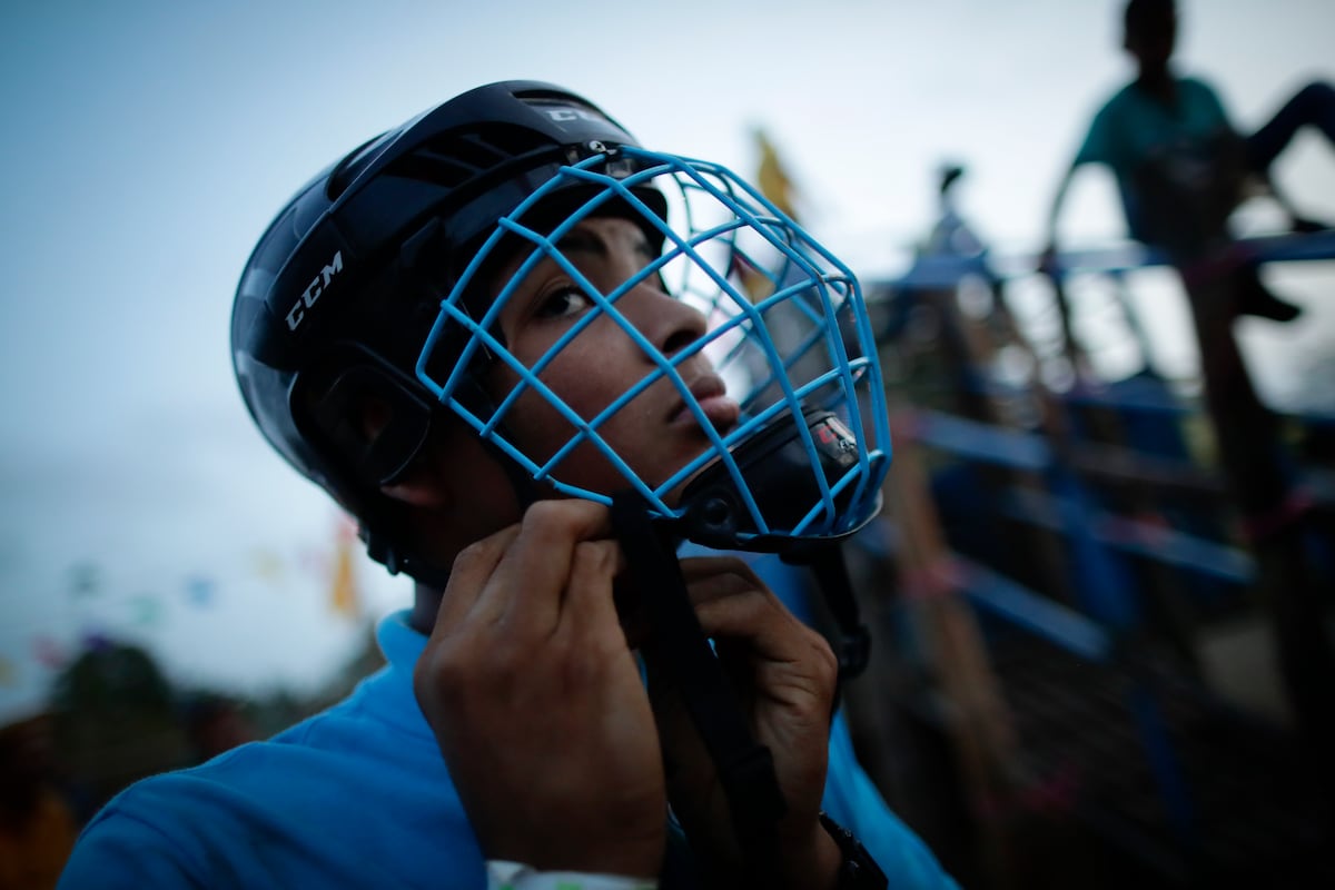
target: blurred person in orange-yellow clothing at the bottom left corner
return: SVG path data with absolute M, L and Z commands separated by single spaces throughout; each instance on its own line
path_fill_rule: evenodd
M 0 890 L 55 887 L 69 857 L 77 826 L 53 770 L 48 715 L 0 729 Z

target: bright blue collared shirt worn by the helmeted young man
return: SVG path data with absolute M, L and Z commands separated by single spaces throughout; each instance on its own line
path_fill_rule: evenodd
M 117 795 L 84 829 L 60 887 L 485 887 L 482 853 L 413 694 L 426 638 L 398 612 L 378 639 L 388 664 L 343 702 Z M 857 766 L 842 719 L 825 809 L 892 887 L 955 887 Z

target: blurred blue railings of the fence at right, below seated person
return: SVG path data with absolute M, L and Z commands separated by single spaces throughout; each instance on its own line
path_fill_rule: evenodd
M 1335 231 L 1242 239 L 1234 250 L 1238 259 L 1263 263 L 1335 260 Z M 889 303 L 897 296 L 912 295 L 913 291 L 953 290 L 968 276 L 1001 287 L 1011 280 L 1044 272 L 1055 276 L 1057 284 L 1073 274 L 1103 274 L 1125 286 L 1129 274 L 1167 264 L 1161 254 L 1135 243 L 1065 252 L 1043 272 L 1039 270 L 1039 258 L 1033 255 L 993 256 L 985 251 L 971 256 L 924 255 L 916 258 L 912 267 L 898 278 L 869 282 L 866 292 L 869 302 L 880 299 Z M 1067 308 L 1063 307 L 1063 311 Z M 1144 332 L 1137 334 L 1143 336 Z M 1004 392 L 1005 387 L 988 380 L 976 370 L 961 374 L 960 378 L 984 387 L 985 395 L 1024 392 L 1020 387 L 1013 394 Z M 1157 388 L 1149 387 L 1132 394 L 1075 387 L 1060 395 L 1059 403 L 1065 407 L 1148 412 L 1165 422 L 1172 422 L 1176 415 L 1199 411 L 1199 407 L 1177 399 L 1161 382 Z M 1231 586 L 1248 586 L 1256 579 L 1255 560 L 1236 547 L 1140 518 L 1121 516 L 1105 508 L 1084 486 L 1085 475 L 1100 468 L 1079 466 L 1080 451 L 1084 448 L 1089 452 L 1085 456 L 1095 458 L 1093 462 L 1084 463 L 1120 460 L 1123 470 L 1129 471 L 1128 475 L 1137 476 L 1137 483 L 1173 480 L 1179 487 L 1195 486 L 1197 494 L 1222 498 L 1224 487 L 1214 474 L 1185 458 L 1071 439 L 1057 443 L 1040 432 L 988 424 L 940 411 L 913 410 L 910 415 L 912 420 L 905 424 L 905 430 L 922 446 L 960 460 L 1020 471 L 1039 479 L 1045 490 L 1008 484 L 995 492 L 995 515 L 1060 534 L 1076 568 L 1077 588 L 1071 598 L 1076 606 L 1068 606 L 1029 590 L 991 566 L 951 554 L 957 590 L 980 614 L 1019 627 L 1085 660 L 1111 664 L 1128 656 L 1120 643 L 1135 632 L 1141 620 L 1133 590 L 1135 576 L 1127 568 L 1128 559 L 1148 559 L 1165 568 L 1188 571 Z M 1107 471 L 1109 467 L 1101 470 Z M 1316 478 L 1318 482 L 1322 479 L 1324 476 Z M 1320 486 L 1310 488 L 1320 491 Z M 1331 490 L 1335 492 L 1335 483 L 1331 483 Z M 1160 714 L 1156 689 L 1143 671 L 1132 670 L 1131 674 L 1133 682 L 1128 686 L 1128 706 L 1135 715 L 1144 754 L 1169 819 L 1189 849 L 1199 839 L 1192 794 Z

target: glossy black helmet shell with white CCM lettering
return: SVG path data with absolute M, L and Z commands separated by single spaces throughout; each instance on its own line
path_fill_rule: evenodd
M 559 87 L 479 87 L 322 171 L 260 238 L 232 307 L 242 396 L 266 439 L 363 531 L 380 500 L 378 483 L 426 438 L 434 406 L 413 367 L 451 276 L 497 220 L 562 165 L 617 145 L 635 141 Z M 311 407 L 311 392 L 352 371 L 359 386 L 413 408 L 403 412 L 406 430 L 387 438 L 388 456 L 350 454 L 338 412 L 320 423 Z

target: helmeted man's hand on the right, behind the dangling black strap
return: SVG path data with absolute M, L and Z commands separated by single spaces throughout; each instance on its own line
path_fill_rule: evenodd
M 714 639 L 756 741 L 774 758 L 788 802 L 777 826 L 777 861 L 765 886 L 833 886 L 840 853 L 817 814 L 838 660 L 825 638 L 794 618 L 740 559 L 694 558 L 681 566 L 700 623 Z M 742 862 L 714 765 L 677 690 L 654 669 L 653 646 L 650 639 L 645 662 L 673 810 L 712 883 L 752 886 L 761 875 Z

